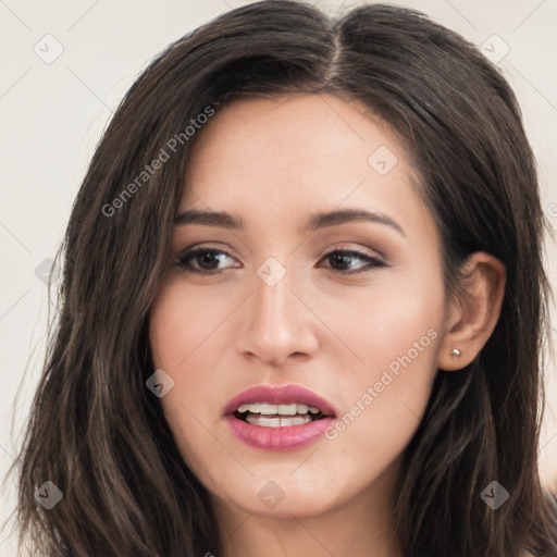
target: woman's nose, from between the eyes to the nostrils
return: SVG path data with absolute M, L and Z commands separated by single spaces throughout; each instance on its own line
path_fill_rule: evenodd
M 250 360 L 286 367 L 311 358 L 318 348 L 319 320 L 302 299 L 289 271 L 273 286 L 253 277 L 253 290 L 245 302 L 237 349 Z

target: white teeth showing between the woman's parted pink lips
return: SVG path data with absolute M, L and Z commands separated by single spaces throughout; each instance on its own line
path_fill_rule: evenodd
M 234 417 L 251 425 L 262 428 L 287 428 L 305 425 L 325 418 L 319 408 L 301 403 L 272 405 L 269 403 L 243 404 Z

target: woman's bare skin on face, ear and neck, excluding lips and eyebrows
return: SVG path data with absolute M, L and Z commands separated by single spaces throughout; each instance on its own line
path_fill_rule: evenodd
M 384 175 L 369 162 L 380 146 L 397 158 Z M 471 294 L 447 298 L 441 238 L 416 191 L 419 180 L 388 126 L 333 96 L 235 101 L 196 136 L 177 213 L 227 211 L 246 226 L 175 226 L 150 343 L 156 369 L 174 380 L 161 398 L 164 414 L 211 494 L 226 556 L 400 556 L 389 523 L 403 451 L 438 369 L 463 368 L 488 338 L 505 282 L 497 260 L 475 253 Z M 403 233 L 377 222 L 304 231 L 310 214 L 347 208 L 388 215 Z M 173 264 L 194 245 L 227 253 L 212 265 L 191 263 L 220 274 Z M 325 257 L 341 248 L 386 267 L 343 275 L 367 261 L 352 256 L 343 267 Z M 286 271 L 274 286 L 257 273 L 270 257 Z M 412 348 L 411 363 L 363 404 L 368 387 Z M 305 386 L 341 414 L 359 400 L 361 411 L 334 440 L 285 451 L 249 447 L 222 411 L 260 384 Z M 268 482 L 284 494 L 272 509 L 258 497 Z

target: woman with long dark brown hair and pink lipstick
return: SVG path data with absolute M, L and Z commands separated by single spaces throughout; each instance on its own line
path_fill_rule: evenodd
M 22 539 L 557 555 L 543 231 L 515 96 L 455 33 L 284 1 L 201 26 L 131 88 L 75 201 Z

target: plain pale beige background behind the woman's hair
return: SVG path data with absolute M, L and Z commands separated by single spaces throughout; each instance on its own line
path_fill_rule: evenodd
M 250 2 L 0 0 L 0 478 L 15 454 L 14 442 L 40 372 L 48 306 L 40 278 L 45 270 L 48 272 L 45 260 L 54 256 L 63 237 L 72 202 L 102 129 L 156 53 L 216 14 L 246 3 Z M 313 3 L 334 12 L 360 2 Z M 391 3 L 420 9 L 478 46 L 493 45 L 494 54 L 499 57 L 508 49 L 498 65 L 521 103 L 540 165 L 544 207 L 556 228 L 556 0 Z M 498 38 L 494 39 L 494 34 Z M 59 58 L 49 59 L 59 51 Z M 556 256 L 557 246 L 552 243 L 548 270 L 554 285 Z M 555 308 L 552 311 L 556 323 Z M 548 360 L 547 369 L 547 408 L 540 449 L 542 474 L 553 484 L 557 478 L 555 360 Z M 16 394 L 18 406 L 11 436 Z M 0 497 L 0 521 L 14 500 L 10 482 Z M 0 532 L 3 557 L 15 555 L 11 532 L 10 525 Z

